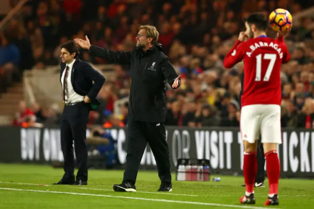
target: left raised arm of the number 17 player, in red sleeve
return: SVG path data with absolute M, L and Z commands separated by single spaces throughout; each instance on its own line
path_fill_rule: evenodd
M 232 68 L 243 59 L 243 41 L 245 38 L 245 32 L 240 32 L 238 40 L 235 42 L 235 46 L 226 54 L 223 66 L 224 68 Z

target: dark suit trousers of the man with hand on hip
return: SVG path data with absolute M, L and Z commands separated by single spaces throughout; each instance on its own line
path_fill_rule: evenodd
M 64 106 L 61 116 L 61 148 L 64 157 L 64 181 L 74 181 L 74 150 L 78 163 L 77 181 L 87 181 L 86 129 L 89 104 Z

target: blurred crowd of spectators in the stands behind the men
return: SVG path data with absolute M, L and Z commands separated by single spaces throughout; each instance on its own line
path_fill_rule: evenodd
M 243 63 L 224 69 L 222 62 L 239 31 L 244 29 L 242 19 L 256 11 L 268 15 L 275 8 L 286 8 L 296 14 L 313 5 L 306 0 L 31 1 L 23 8 L 22 21 L 12 20 L 1 36 L 0 54 L 4 49 L 11 53 L 19 50 L 19 58 L 11 63 L 20 69 L 45 70 L 46 66 L 59 63 L 60 45 L 74 37 L 84 39 L 87 35 L 93 45 L 130 51 L 135 47 L 139 26 L 155 25 L 160 33 L 158 42 L 182 75 L 180 89 L 167 89 L 166 125 L 238 127 Z M 268 33 L 276 36 L 274 31 Z M 283 127 L 313 127 L 313 38 L 312 18 L 293 20 L 292 31 L 286 38 L 291 61 L 282 66 Z M 11 47 L 6 47 L 2 40 Z M 84 50 L 80 52 L 84 61 L 106 64 L 106 60 L 90 57 Z M 115 66 L 115 78 L 105 82 L 98 95 L 103 104 L 90 113 L 89 125 L 127 125 L 128 103 L 115 104 L 128 98 L 129 70 L 130 66 Z M 40 109 L 38 105 L 34 104 L 33 109 Z M 52 117 L 51 121 L 57 124 L 57 110 L 46 109 L 44 119 L 36 110 L 30 115 L 36 115 L 35 122 L 46 123 Z M 15 124 L 21 124 L 17 121 Z

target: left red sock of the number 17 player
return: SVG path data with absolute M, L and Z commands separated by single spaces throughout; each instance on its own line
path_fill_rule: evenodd
M 246 192 L 254 192 L 255 176 L 257 174 L 256 152 L 244 152 L 243 175 Z

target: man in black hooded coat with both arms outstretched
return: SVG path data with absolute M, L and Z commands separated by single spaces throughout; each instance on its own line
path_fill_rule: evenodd
M 90 55 L 110 63 L 131 64 L 131 91 L 127 139 L 127 162 L 123 182 L 114 184 L 114 191 L 136 191 L 135 182 L 147 142 L 154 154 L 161 184 L 158 191 L 172 191 L 169 149 L 164 127 L 166 115 L 165 81 L 176 89 L 180 76 L 157 44 L 159 33 L 155 26 L 140 26 L 136 49 L 115 52 L 86 41 L 75 39 Z

